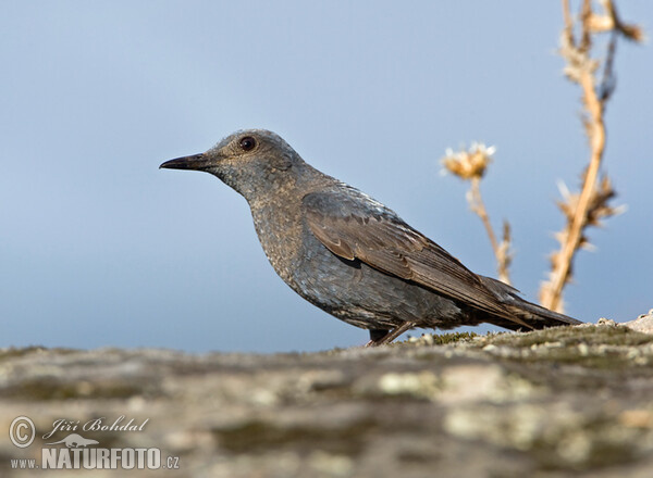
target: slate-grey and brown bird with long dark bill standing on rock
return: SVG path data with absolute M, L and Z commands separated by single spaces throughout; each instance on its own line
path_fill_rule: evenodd
M 391 209 L 309 165 L 275 133 L 238 130 L 160 168 L 210 173 L 242 194 L 276 274 L 308 302 L 367 329 L 367 345 L 412 328 L 581 324 L 472 273 Z

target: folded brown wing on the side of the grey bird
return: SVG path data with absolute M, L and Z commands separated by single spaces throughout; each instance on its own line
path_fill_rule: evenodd
M 343 192 L 311 192 L 303 200 L 308 228 L 331 252 L 527 326 L 479 276 L 393 211 L 358 190 Z

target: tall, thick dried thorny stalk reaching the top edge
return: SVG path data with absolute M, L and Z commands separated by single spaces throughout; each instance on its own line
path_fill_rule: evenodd
M 621 23 L 612 0 L 603 0 L 604 13 L 592 11 L 591 0 L 583 0 L 580 11 L 580 40 L 574 36 L 574 22 L 568 0 L 562 0 L 565 29 L 562 37 L 560 54 L 567 61 L 565 72 L 568 78 L 578 83 L 582 89 L 584 105 L 583 123 L 590 146 L 590 163 L 583 174 L 583 185 L 579 197 L 568 194 L 566 203 L 559 206 L 567 216 L 567 224 L 557 237 L 560 248 L 551 256 L 552 271 L 550 278 L 540 289 L 540 302 L 545 307 L 563 312 L 563 289 L 571 279 L 572 262 L 579 248 L 587 246 L 583 236 L 590 225 L 599 225 L 599 219 L 618 213 L 607 205 L 607 200 L 615 196 L 609 180 L 599 184 L 599 172 L 605 151 L 605 105 L 614 92 L 615 78 L 613 63 L 616 51 L 617 34 L 634 41 L 641 41 L 642 30 L 634 25 Z M 604 61 L 601 81 L 595 71 L 600 62 L 590 58 L 592 35 L 609 32 L 611 40 Z

